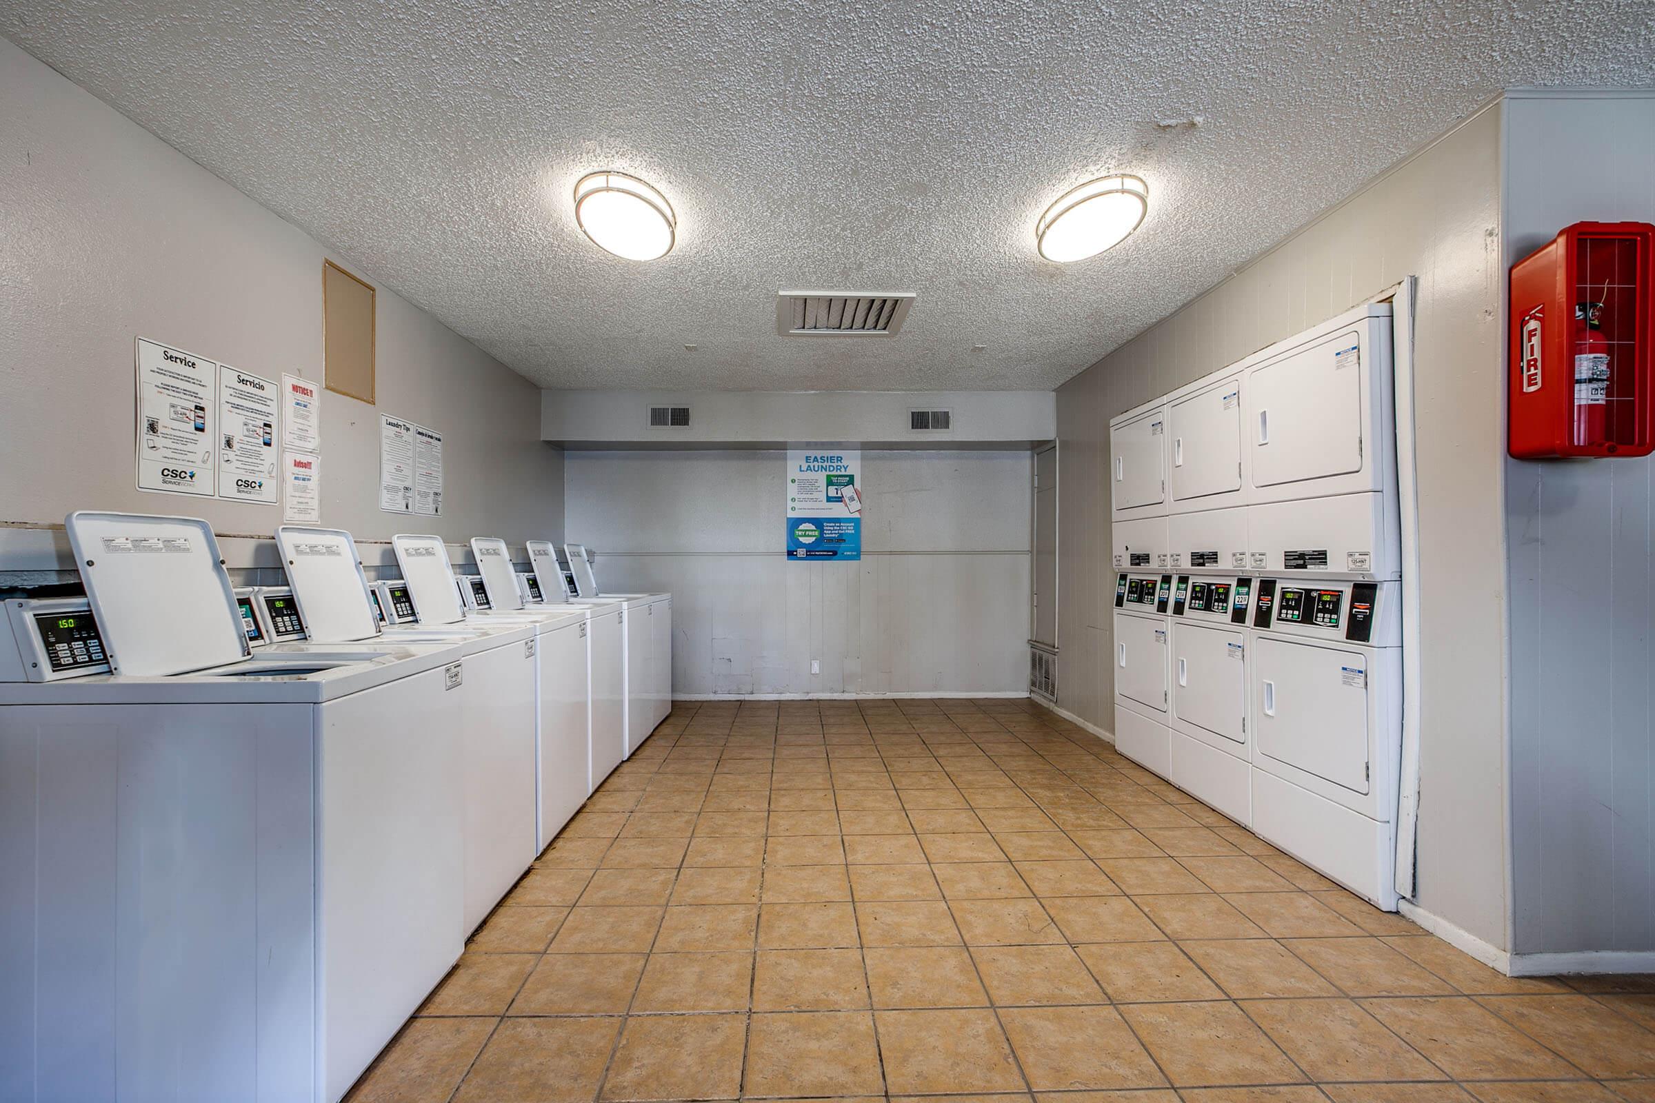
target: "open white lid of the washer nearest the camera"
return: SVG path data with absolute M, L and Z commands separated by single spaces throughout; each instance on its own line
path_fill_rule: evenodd
M 78 511 L 63 526 L 111 673 L 162 678 L 252 653 L 205 521 Z

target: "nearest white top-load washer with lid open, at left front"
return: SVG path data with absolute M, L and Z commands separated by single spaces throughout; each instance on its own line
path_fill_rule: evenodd
M 331 1103 L 463 949 L 452 652 L 253 655 L 204 521 L 66 528 L 84 614 L 8 602 L 3 1093 Z

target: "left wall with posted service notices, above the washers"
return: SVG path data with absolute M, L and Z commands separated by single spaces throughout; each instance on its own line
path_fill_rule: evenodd
M 131 509 L 270 536 L 280 508 L 134 488 L 132 342 L 319 382 L 324 256 L 374 276 L 0 40 L 0 523 Z M 540 390 L 384 286 L 377 346 L 377 410 L 323 397 L 323 523 L 364 539 L 559 534 Z M 377 509 L 379 410 L 444 433 L 442 519 Z

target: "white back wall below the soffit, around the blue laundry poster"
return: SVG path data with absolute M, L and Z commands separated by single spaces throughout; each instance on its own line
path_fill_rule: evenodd
M 672 590 L 674 693 L 1021 693 L 1028 451 L 864 451 L 862 561 L 788 562 L 784 451 L 569 451 L 606 590 Z M 811 660 L 821 675 L 811 675 Z

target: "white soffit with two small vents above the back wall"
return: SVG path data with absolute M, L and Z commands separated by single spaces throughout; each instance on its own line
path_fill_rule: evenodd
M 864 446 L 879 442 L 948 448 L 967 442 L 1031 443 L 1058 432 L 1049 390 L 546 390 L 541 402 L 541 433 L 571 446 L 732 448 L 861 440 Z M 649 428 L 652 405 L 690 407 L 688 428 Z M 952 428 L 912 432 L 909 410 L 950 410 Z

